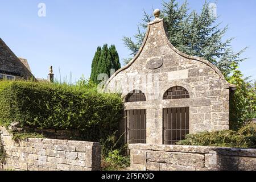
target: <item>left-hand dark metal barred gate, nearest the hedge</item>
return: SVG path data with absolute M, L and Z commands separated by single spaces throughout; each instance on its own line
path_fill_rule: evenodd
M 146 109 L 125 110 L 128 143 L 146 143 L 146 114 Z

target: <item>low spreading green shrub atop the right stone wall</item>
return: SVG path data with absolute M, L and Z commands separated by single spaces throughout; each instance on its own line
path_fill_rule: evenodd
M 191 146 L 217 146 L 256 148 L 256 124 L 248 123 L 238 131 L 224 130 L 189 134 L 177 144 Z

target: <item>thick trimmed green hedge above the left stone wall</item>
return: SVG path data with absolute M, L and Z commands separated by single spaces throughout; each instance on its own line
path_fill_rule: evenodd
M 96 140 L 118 129 L 122 110 L 118 94 L 98 93 L 88 86 L 0 81 L 3 126 L 19 122 L 22 127 L 78 129 Z

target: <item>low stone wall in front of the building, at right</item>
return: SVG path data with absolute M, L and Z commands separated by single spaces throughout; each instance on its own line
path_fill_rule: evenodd
M 256 150 L 241 148 L 129 144 L 131 170 L 255 171 Z

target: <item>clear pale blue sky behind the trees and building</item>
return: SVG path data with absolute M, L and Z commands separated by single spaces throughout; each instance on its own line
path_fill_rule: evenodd
M 38 4 L 46 4 L 46 17 L 39 18 Z M 183 2 L 179 0 L 178 2 Z M 204 0 L 189 0 L 189 7 L 200 11 Z M 215 2 L 215 0 L 209 0 Z M 36 77 L 46 78 L 49 66 L 59 77 L 73 81 L 90 67 L 97 46 L 115 44 L 122 60 L 129 57 L 123 36 L 133 36 L 143 9 L 151 13 L 162 7 L 161 0 L 0 0 L 0 37 L 30 63 Z M 256 79 L 256 1 L 218 0 L 217 14 L 222 26 L 229 24 L 226 38 L 235 37 L 234 51 L 249 46 L 249 57 L 241 64 L 246 76 Z M 69 79 L 69 78 L 68 78 Z

